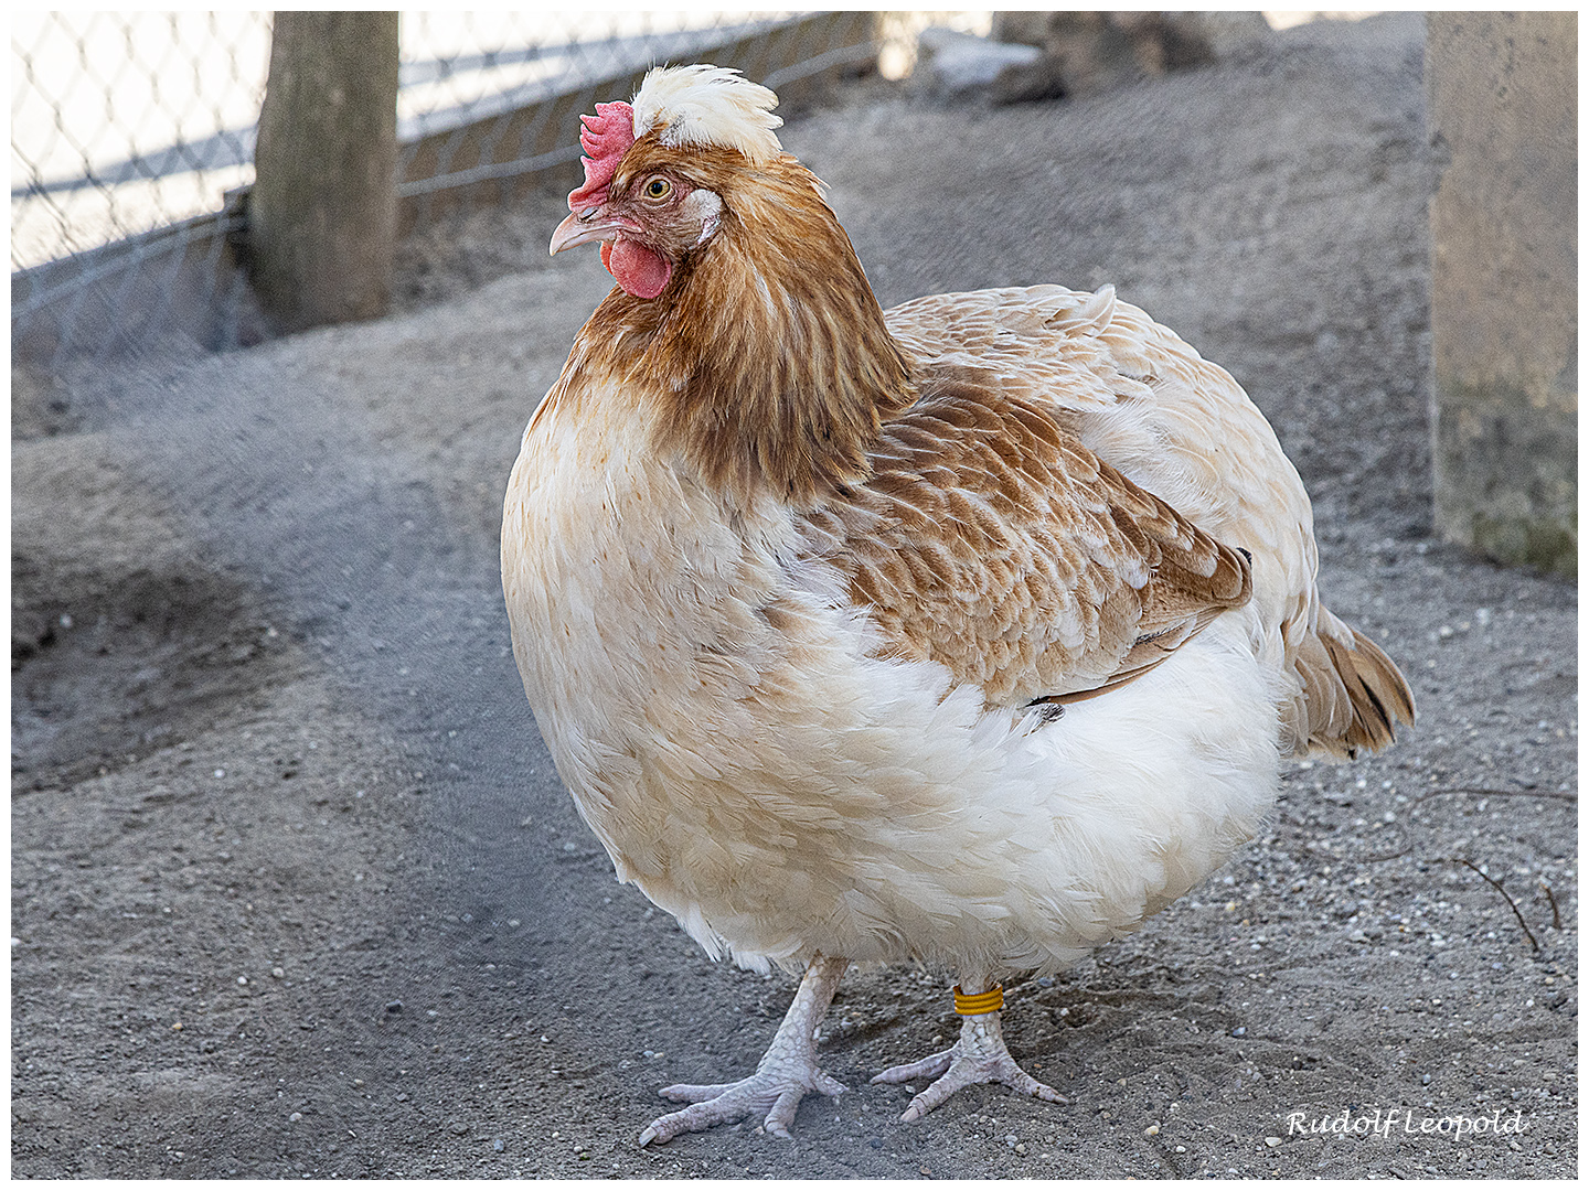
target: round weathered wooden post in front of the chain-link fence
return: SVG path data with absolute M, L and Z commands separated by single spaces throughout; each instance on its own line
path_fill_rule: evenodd
M 397 13 L 276 13 L 248 200 L 280 330 L 386 313 L 397 227 Z

